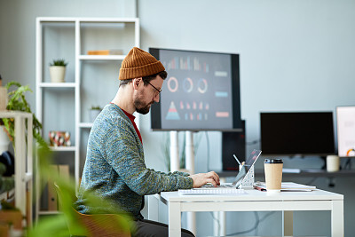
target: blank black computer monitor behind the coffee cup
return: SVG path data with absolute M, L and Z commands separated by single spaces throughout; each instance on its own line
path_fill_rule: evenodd
M 260 113 L 264 155 L 335 154 L 332 112 Z

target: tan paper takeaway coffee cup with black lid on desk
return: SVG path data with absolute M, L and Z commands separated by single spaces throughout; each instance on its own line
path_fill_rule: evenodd
M 280 193 L 282 166 L 283 162 L 281 159 L 264 160 L 265 183 L 268 193 Z

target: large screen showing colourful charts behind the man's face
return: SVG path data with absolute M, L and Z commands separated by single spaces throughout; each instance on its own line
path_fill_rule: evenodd
M 241 130 L 239 55 L 150 48 L 168 72 L 152 130 Z

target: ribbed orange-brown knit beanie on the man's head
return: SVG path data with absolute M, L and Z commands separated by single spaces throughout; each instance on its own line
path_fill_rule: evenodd
M 162 63 L 150 53 L 134 47 L 122 60 L 120 68 L 120 80 L 133 79 L 147 75 L 154 75 L 165 71 Z

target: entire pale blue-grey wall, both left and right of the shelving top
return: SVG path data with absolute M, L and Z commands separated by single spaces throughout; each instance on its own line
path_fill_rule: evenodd
M 237 52 L 241 55 L 241 115 L 247 121 L 247 139 L 259 139 L 261 111 L 335 111 L 336 106 L 354 105 L 355 88 L 355 1 L 353 0 L 149 0 L 138 1 L 141 47 L 163 47 L 194 51 Z M 0 74 L 4 83 L 19 81 L 35 89 L 35 19 L 38 16 L 133 17 L 130 0 L 0 0 Z M 36 92 L 36 91 L 35 91 Z M 113 95 L 114 96 L 114 95 Z M 35 93 L 29 94 L 35 105 Z M 34 109 L 34 107 L 32 107 Z M 147 166 L 166 170 L 161 152 L 164 133 L 151 132 L 149 115 L 142 116 Z M 205 134 L 196 157 L 196 170 L 220 169 L 220 134 Z M 248 151 L 259 144 L 248 146 Z M 289 159 L 289 166 L 319 167 L 317 158 Z M 300 182 L 310 182 L 310 178 Z M 355 213 L 355 178 L 326 178 L 313 184 L 345 194 L 345 235 Z M 200 214 L 199 214 L 200 215 Z M 229 215 L 227 232 L 248 228 L 252 213 Z M 260 216 L 263 216 L 261 213 Z M 314 216 L 315 215 L 315 216 Z M 297 234 L 306 234 L 316 219 L 314 234 L 329 235 L 323 228 L 329 214 L 297 213 Z M 211 224 L 205 214 L 200 219 Z M 243 219 L 247 219 L 246 221 Z M 274 234 L 276 214 L 262 222 L 259 234 Z M 238 224 L 236 224 L 238 223 Z M 211 228 L 198 223 L 198 235 Z M 253 234 L 253 233 L 250 233 Z M 276 233 L 278 234 L 278 233 Z M 313 234 L 313 233 L 311 233 Z

